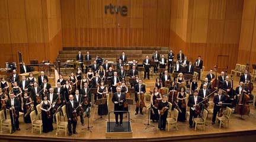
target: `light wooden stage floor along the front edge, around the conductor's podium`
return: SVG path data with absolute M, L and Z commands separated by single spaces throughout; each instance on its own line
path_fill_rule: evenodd
M 113 104 L 110 103 L 109 105 L 109 109 L 112 109 Z M 145 129 L 144 124 L 148 122 L 148 115 L 145 113 L 144 115 L 133 114 L 132 112 L 134 112 L 135 106 L 131 106 L 130 110 L 133 129 L 132 138 L 105 138 L 105 122 L 108 117 L 106 115 L 103 117 L 105 120 L 95 120 L 98 118 L 98 115 L 97 106 L 94 106 L 89 122 L 90 126 L 93 126 L 91 128 L 92 132 L 82 130 L 82 128 L 87 127 L 87 118 L 85 118 L 85 126 L 82 126 L 80 120 L 78 120 L 78 127 L 76 128 L 78 135 L 73 134 L 72 136 L 65 136 L 64 132 L 55 135 L 56 130 L 47 134 L 39 134 L 37 130 L 31 133 L 31 128 L 29 128 L 30 124 L 24 124 L 24 122 L 21 121 L 23 118 L 20 118 L 21 131 L 9 134 L 9 131 L 5 128 L 4 131 L 0 133 L 0 141 L 255 141 L 256 115 L 243 116 L 243 119 L 241 119 L 239 115 L 232 114 L 229 128 L 219 128 L 218 124 L 212 125 L 209 116 L 205 131 L 202 129 L 194 131 L 194 128 L 189 128 L 187 120 L 187 122 L 178 122 L 178 130 L 171 128 L 168 132 L 168 126 L 166 131 L 160 131 L 158 129 L 158 123 L 152 123 L 151 121 L 149 122 L 155 127 Z M 251 113 L 256 113 L 252 105 Z M 114 121 L 114 115 L 111 115 L 110 118 L 111 121 Z M 56 124 L 53 126 L 56 128 Z M 27 128 L 29 129 L 26 130 Z

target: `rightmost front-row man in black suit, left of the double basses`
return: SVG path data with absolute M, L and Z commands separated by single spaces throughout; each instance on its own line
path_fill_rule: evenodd
M 225 102 L 225 96 L 222 95 L 222 89 L 218 89 L 218 94 L 213 97 L 213 103 L 215 104 L 213 107 L 213 117 L 212 117 L 212 124 L 215 124 L 216 115 L 222 108 L 222 103 Z

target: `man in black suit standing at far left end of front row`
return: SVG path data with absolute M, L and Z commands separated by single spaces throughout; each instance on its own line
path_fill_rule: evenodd
M 21 104 L 17 98 L 14 98 L 13 92 L 9 93 L 9 97 L 10 99 L 7 100 L 6 108 L 9 109 L 9 115 L 10 115 L 11 124 L 12 124 L 11 133 L 13 134 L 16 130 L 20 131 L 20 127 L 19 127 L 20 122 L 18 118 L 19 118 L 19 109 Z M 16 117 L 14 114 L 12 114 L 12 112 L 15 113 Z

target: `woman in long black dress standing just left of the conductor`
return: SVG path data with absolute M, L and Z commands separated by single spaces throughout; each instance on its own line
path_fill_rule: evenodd
M 98 98 L 97 99 L 103 99 L 107 98 L 107 87 L 104 86 L 104 81 L 101 80 L 100 86 L 98 86 L 97 93 Z M 107 107 L 107 101 L 103 105 L 98 105 L 98 115 L 107 115 L 108 114 L 108 107 Z

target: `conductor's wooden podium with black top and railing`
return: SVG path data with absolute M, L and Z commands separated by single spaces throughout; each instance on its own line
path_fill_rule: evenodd
M 128 121 L 123 121 L 123 126 L 116 126 L 115 121 L 110 121 L 110 113 L 113 113 L 114 111 L 111 111 L 108 113 L 108 121 L 106 121 L 106 131 L 105 131 L 105 137 L 106 138 L 128 138 L 133 137 L 133 131 L 132 131 L 132 125 L 130 123 L 130 114 Z M 126 112 L 126 111 L 125 111 Z

